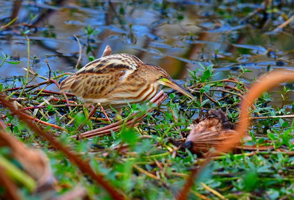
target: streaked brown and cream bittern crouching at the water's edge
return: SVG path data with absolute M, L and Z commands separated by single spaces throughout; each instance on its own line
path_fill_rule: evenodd
M 103 108 L 121 109 L 127 102 L 151 99 L 160 85 L 166 85 L 193 99 L 159 66 L 145 64 L 131 54 L 113 54 L 88 63 L 60 83 L 61 91 L 70 90 L 85 107 L 100 103 Z

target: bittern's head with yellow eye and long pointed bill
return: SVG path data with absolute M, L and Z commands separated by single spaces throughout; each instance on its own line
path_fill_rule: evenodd
M 190 92 L 188 92 L 185 88 L 183 88 L 182 86 L 177 84 L 171 78 L 171 76 L 169 76 L 168 73 L 166 73 L 166 71 L 164 71 L 164 69 L 162 69 L 161 67 L 159 67 L 157 65 L 148 64 L 148 66 L 152 67 L 154 69 L 154 70 L 152 70 L 152 73 L 149 75 L 150 75 L 150 78 L 155 80 L 155 82 L 157 84 L 166 85 L 168 87 L 171 87 L 171 88 L 181 92 L 182 94 L 188 96 L 190 99 L 194 98 Z

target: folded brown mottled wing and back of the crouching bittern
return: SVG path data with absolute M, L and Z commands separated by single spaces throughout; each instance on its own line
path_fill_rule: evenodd
M 111 92 L 117 84 L 142 63 L 131 54 L 113 54 L 88 63 L 60 83 L 61 91 L 71 90 L 84 99 L 100 98 Z

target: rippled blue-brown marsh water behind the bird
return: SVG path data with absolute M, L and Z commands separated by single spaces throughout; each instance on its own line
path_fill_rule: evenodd
M 281 10 L 291 10 L 293 3 L 288 4 Z M 0 31 L 0 49 L 22 61 L 1 67 L 2 83 L 25 75 L 27 44 L 19 31 L 26 30 L 30 30 L 32 70 L 41 76 L 48 76 L 45 55 L 53 71 L 76 70 L 79 45 L 74 35 L 82 47 L 79 67 L 89 62 L 87 55 L 99 58 L 110 45 L 112 53 L 133 54 L 161 66 L 174 79 L 189 77 L 187 69 L 193 71 L 199 64 L 212 64 L 216 80 L 238 74 L 243 66 L 253 71 L 243 75 L 250 85 L 253 77 L 268 70 L 293 68 L 293 23 L 273 32 L 284 20 L 278 11 L 250 17 L 263 8 L 261 1 L 0 1 L 0 5 L 1 24 L 18 16 Z M 53 85 L 48 89 L 57 90 Z M 293 92 L 288 95 L 286 104 L 292 104 Z

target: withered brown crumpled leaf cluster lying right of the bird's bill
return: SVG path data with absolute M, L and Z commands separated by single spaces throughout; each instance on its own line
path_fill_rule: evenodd
M 238 132 L 233 129 L 232 124 L 221 110 L 208 111 L 201 121 L 196 120 L 190 127 L 191 131 L 186 138 L 184 147 L 199 155 L 207 153 L 211 148 L 219 152 L 227 153 L 228 149 L 232 149 L 233 153 L 240 153 L 241 149 L 264 151 L 272 147 L 267 146 L 267 143 L 261 144 L 258 148 L 256 145 L 245 145 L 246 141 L 250 140 L 245 135 L 242 135 L 234 143 L 228 144 L 227 141 L 235 137 Z M 231 145 L 230 148 L 227 145 Z

